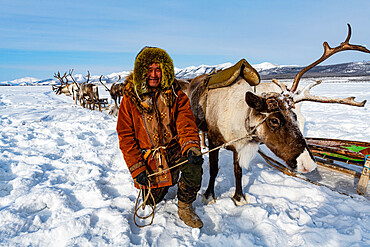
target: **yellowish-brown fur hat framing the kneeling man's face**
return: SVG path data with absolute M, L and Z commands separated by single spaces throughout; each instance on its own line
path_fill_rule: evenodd
M 136 56 L 133 72 L 134 87 L 140 97 L 150 92 L 147 76 L 149 65 L 152 63 L 158 63 L 162 70 L 160 84 L 162 92 L 169 90 L 175 80 L 173 62 L 167 52 L 157 47 L 146 46 Z

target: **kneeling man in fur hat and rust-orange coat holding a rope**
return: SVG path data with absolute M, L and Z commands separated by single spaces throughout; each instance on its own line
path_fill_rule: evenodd
M 178 182 L 178 215 L 188 226 L 201 228 L 192 206 L 203 174 L 198 128 L 166 51 L 145 47 L 136 56 L 134 71 L 126 78 L 117 133 L 135 187 L 143 192 L 151 188 L 155 202 L 147 203 L 159 203 Z M 170 169 L 186 159 L 181 168 Z

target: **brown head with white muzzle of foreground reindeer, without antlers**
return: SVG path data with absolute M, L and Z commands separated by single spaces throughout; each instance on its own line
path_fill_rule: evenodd
M 298 172 L 310 172 L 316 164 L 299 130 L 297 116 L 289 101 L 279 93 L 266 93 L 262 96 L 247 92 L 245 101 L 252 108 L 251 126 L 258 123 L 258 138 L 286 164 Z

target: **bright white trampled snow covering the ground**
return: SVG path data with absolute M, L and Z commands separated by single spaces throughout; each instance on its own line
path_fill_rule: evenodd
M 369 88 L 369 81 L 332 80 L 312 93 L 369 101 Z M 305 136 L 370 141 L 369 105 L 306 102 L 302 112 Z M 138 191 L 118 148 L 115 117 L 75 106 L 51 86 L 10 86 L 0 87 L 0 126 L 1 246 L 370 246 L 368 196 L 289 177 L 260 156 L 243 171 L 249 204 L 235 206 L 225 150 L 218 200 L 203 205 L 199 195 L 194 203 L 202 229 L 178 219 L 176 187 L 157 205 L 153 225 L 140 229 L 133 222 Z M 202 191 L 207 163 L 205 155 Z

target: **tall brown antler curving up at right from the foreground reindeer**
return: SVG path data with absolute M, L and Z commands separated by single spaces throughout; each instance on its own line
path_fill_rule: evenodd
M 301 77 L 304 73 L 306 73 L 308 70 L 312 69 L 313 67 L 315 67 L 316 65 L 318 65 L 322 61 L 326 60 L 331 55 L 333 55 L 337 52 L 345 51 L 345 50 L 356 50 L 356 51 L 370 53 L 370 51 L 364 46 L 349 44 L 349 39 L 351 38 L 352 31 L 351 31 L 351 25 L 348 24 L 348 23 L 347 23 L 347 25 L 348 25 L 348 35 L 347 35 L 346 40 L 344 42 L 342 42 L 339 46 L 334 47 L 334 48 L 331 48 L 329 46 L 328 42 L 325 41 L 323 43 L 324 54 L 321 56 L 321 58 L 319 58 L 318 60 L 316 60 L 315 62 L 313 62 L 312 64 L 308 65 L 307 67 L 305 67 L 304 69 L 302 69 L 301 71 L 298 72 L 298 74 L 294 78 L 292 88 L 290 89 L 292 92 L 295 92 L 297 90 L 299 80 L 301 79 Z

